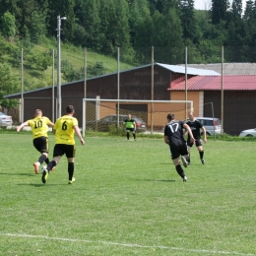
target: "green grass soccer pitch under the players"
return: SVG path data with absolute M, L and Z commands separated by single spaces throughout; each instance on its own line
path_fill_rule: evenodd
M 0 134 L 0 255 L 256 255 L 255 142 L 193 147 L 183 182 L 163 139 L 85 140 L 42 184 L 31 133 Z

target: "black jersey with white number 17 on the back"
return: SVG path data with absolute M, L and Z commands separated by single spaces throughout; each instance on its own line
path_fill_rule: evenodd
M 182 121 L 170 121 L 164 127 L 164 136 L 168 136 L 169 144 L 178 144 L 185 142 L 183 136 L 183 124 Z

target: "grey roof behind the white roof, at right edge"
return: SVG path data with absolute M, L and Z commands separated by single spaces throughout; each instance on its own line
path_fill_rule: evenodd
M 222 63 L 187 64 L 187 67 L 213 70 L 222 74 Z M 224 63 L 224 76 L 226 75 L 256 75 L 256 63 Z

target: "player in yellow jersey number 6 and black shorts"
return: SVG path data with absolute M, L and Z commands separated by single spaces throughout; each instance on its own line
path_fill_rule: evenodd
M 65 154 L 68 159 L 68 184 L 72 184 L 75 181 L 73 177 L 75 169 L 75 139 L 74 134 L 78 135 L 82 145 L 85 145 L 85 141 L 81 135 L 80 129 L 78 127 L 77 118 L 73 117 L 75 113 L 75 108 L 73 105 L 68 105 L 66 107 L 66 115 L 58 118 L 54 127 L 53 133 L 55 134 L 55 146 L 53 150 L 53 160 L 51 160 L 47 165 L 41 168 L 42 183 L 46 183 L 49 171 L 55 167 L 61 157 Z

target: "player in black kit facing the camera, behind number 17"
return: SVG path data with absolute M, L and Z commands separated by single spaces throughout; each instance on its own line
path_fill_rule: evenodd
M 207 143 L 207 138 L 206 138 L 206 129 L 205 127 L 194 117 L 193 112 L 188 113 L 189 121 L 187 121 L 187 125 L 190 127 L 194 138 L 196 139 L 196 147 L 199 151 L 200 155 L 200 160 L 202 161 L 203 164 L 205 164 L 204 160 L 204 149 L 202 146 L 202 140 L 201 140 L 201 131 L 200 129 L 203 130 L 204 134 L 204 143 Z M 187 147 L 188 147 L 188 152 L 190 152 L 190 148 L 193 146 L 193 143 L 190 141 L 190 135 L 188 134 L 187 138 Z M 190 164 L 190 158 L 188 159 L 188 164 Z

